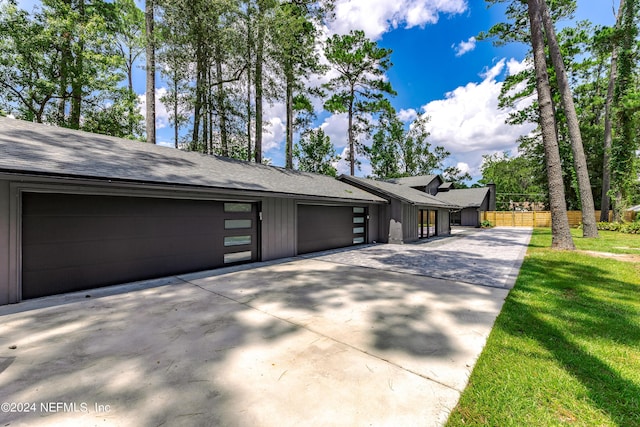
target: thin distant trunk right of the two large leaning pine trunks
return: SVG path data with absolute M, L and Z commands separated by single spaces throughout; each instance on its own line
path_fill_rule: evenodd
M 622 9 L 624 9 L 624 0 L 620 0 L 618 8 L 618 17 L 616 18 L 616 27 L 620 27 L 622 21 Z M 600 221 L 609 221 L 609 210 L 611 208 L 609 190 L 611 189 L 611 145 L 613 141 L 613 94 L 616 87 L 616 79 L 618 78 L 618 45 L 615 44 L 611 53 L 611 70 L 609 72 L 609 87 L 607 88 L 607 100 L 605 102 L 604 115 L 604 155 L 602 158 L 602 203 L 600 206 Z

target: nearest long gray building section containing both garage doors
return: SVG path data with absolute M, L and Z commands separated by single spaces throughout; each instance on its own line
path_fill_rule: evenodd
M 0 304 L 384 241 L 389 209 L 347 180 L 0 118 Z

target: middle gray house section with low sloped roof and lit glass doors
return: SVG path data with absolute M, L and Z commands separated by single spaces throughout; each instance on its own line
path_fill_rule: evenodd
M 389 202 L 377 219 L 381 242 L 408 243 L 451 233 L 449 212 L 459 209 L 457 205 L 399 183 L 347 175 L 339 179 Z

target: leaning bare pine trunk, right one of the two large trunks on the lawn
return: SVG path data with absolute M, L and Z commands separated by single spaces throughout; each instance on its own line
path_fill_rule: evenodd
M 582 208 L 582 234 L 583 237 L 598 237 L 598 226 L 596 224 L 596 213 L 593 205 L 593 193 L 591 192 L 591 181 L 589 180 L 589 170 L 587 168 L 587 158 L 584 155 L 584 146 L 582 144 L 582 135 L 580 133 L 580 123 L 576 114 L 576 107 L 573 103 L 573 93 L 569 86 L 569 79 L 562 59 L 562 52 L 556 39 L 556 32 L 553 27 L 553 21 L 547 8 L 545 0 L 539 0 L 542 12 L 542 21 L 547 34 L 547 42 L 549 44 L 549 53 L 551 54 L 551 62 L 556 70 L 556 79 L 560 90 L 562 106 L 567 118 L 567 127 L 569 130 L 569 139 L 571 141 L 571 149 L 573 151 L 573 161 L 578 179 L 578 189 L 580 192 L 580 204 Z

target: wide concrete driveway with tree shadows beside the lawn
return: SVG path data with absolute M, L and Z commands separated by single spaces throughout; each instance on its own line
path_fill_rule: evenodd
M 442 425 L 530 233 L 474 230 L 0 307 L 0 422 Z

